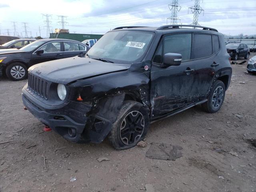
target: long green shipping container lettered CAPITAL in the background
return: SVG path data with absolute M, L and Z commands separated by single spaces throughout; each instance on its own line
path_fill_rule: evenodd
M 57 34 L 51 33 L 50 38 L 56 38 Z M 103 35 L 97 34 L 78 34 L 78 33 L 60 33 L 58 35 L 59 39 L 71 39 L 82 42 L 86 39 L 100 39 Z

